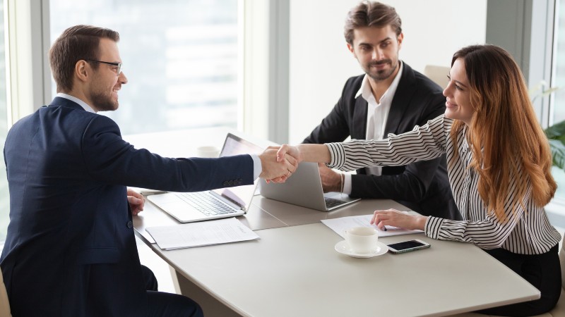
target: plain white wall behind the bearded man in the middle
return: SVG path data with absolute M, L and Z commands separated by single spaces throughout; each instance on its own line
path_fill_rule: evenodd
M 331 4 L 330 4 L 331 2 Z M 362 74 L 343 37 L 359 0 L 290 0 L 290 135 L 301 142 L 338 101 L 345 80 Z M 484 43 L 486 0 L 390 0 L 403 20 L 400 58 L 422 72 L 449 66 L 463 46 Z

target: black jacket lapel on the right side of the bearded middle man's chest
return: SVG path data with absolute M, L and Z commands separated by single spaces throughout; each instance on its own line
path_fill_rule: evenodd
M 388 118 L 383 135 L 385 138 L 388 133 L 398 134 L 400 120 L 403 118 L 408 104 L 410 100 L 412 100 L 412 95 L 415 92 L 415 89 L 412 88 L 416 80 L 414 71 L 406 63 L 403 62 L 403 64 L 402 77 L 400 77 L 400 82 L 398 82 L 398 87 L 396 87 L 393 102 L 391 103 L 391 110 L 388 111 Z M 367 125 L 367 123 L 365 123 L 365 125 Z

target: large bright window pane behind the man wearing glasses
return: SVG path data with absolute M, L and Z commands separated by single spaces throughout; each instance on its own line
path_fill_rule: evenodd
M 118 111 L 101 114 L 116 120 L 122 134 L 237 128 L 237 0 L 49 4 L 52 42 L 78 24 L 119 32 L 129 82 Z

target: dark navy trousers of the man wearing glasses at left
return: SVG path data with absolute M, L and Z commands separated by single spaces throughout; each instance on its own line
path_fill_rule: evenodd
M 157 292 L 157 278 L 146 266 L 141 266 L 145 290 L 147 290 L 147 316 L 155 317 L 202 317 L 200 306 L 188 297 L 178 294 Z

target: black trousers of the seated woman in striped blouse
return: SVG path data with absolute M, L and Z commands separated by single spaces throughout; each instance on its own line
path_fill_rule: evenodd
M 541 297 L 535 301 L 484 309 L 477 313 L 499 316 L 533 316 L 554 308 L 561 294 L 559 244 L 544 254 L 515 254 L 504 249 L 484 250 L 530 282 Z

